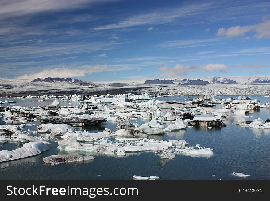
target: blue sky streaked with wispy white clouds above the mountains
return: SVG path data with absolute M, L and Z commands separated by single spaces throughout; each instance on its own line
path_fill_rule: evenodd
M 263 76 L 269 54 L 268 0 L 0 1 L 2 79 Z

